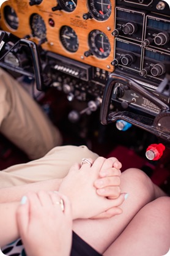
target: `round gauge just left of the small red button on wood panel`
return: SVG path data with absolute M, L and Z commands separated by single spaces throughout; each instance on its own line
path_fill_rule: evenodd
M 32 29 L 32 36 L 38 37 L 39 39 L 46 39 L 46 26 L 43 18 L 37 14 L 33 13 L 30 17 L 30 26 Z

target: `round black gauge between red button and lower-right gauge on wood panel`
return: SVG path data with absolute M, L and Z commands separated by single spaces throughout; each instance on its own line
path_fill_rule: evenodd
M 62 26 L 60 30 L 60 40 L 67 51 L 75 53 L 78 50 L 78 36 L 69 26 Z

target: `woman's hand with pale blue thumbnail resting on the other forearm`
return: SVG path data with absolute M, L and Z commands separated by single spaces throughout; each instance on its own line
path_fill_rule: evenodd
M 70 201 L 64 195 L 29 192 L 18 207 L 17 224 L 28 256 L 70 255 L 72 211 Z

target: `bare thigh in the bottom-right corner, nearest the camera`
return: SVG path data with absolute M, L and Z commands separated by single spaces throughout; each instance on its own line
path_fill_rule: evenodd
M 170 248 L 170 198 L 160 197 L 144 206 L 105 256 L 164 255 Z

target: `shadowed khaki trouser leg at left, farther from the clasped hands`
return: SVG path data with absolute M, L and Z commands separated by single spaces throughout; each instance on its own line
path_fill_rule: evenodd
M 28 92 L 0 69 L 0 132 L 26 152 L 29 159 L 39 159 L 60 146 L 59 130 L 43 113 Z

